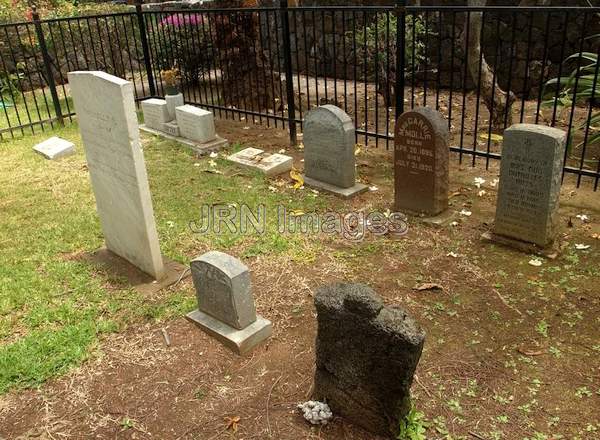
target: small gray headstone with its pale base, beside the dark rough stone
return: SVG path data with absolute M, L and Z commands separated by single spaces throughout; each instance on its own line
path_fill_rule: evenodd
M 239 354 L 267 339 L 271 322 L 256 315 L 248 268 L 237 258 L 212 251 L 192 260 L 198 310 L 187 318 Z

